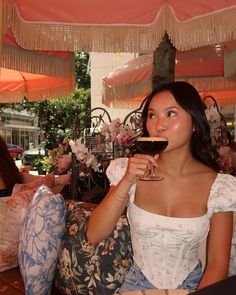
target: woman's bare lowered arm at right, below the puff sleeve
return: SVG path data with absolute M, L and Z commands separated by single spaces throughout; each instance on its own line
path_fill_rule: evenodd
M 207 261 L 198 289 L 221 281 L 228 276 L 233 213 L 215 213 L 207 240 Z

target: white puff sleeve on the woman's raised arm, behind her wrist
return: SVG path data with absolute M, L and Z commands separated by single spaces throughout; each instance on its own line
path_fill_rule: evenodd
M 110 162 L 106 170 L 106 175 L 110 181 L 110 185 L 116 185 L 124 176 L 128 165 L 128 158 L 117 158 Z

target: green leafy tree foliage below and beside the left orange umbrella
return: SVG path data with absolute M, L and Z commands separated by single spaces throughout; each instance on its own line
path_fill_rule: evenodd
M 73 130 L 83 126 L 91 109 L 90 76 L 88 74 L 89 54 L 75 53 L 75 92 L 54 100 L 29 102 L 24 98 L 19 104 L 0 104 L 1 107 L 18 111 L 27 110 L 38 117 L 42 139 L 47 148 L 54 148 L 61 138 L 73 137 Z

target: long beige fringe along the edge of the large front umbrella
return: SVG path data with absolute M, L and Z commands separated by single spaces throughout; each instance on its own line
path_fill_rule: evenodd
M 4 26 L 10 26 L 17 43 L 31 50 L 150 52 L 155 50 L 167 31 L 178 50 L 222 43 L 236 39 L 236 6 L 215 13 L 176 20 L 168 5 L 156 20 L 141 25 L 68 25 L 24 22 L 13 3 L 4 1 Z

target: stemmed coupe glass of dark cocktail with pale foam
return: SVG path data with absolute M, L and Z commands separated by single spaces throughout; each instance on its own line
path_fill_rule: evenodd
M 136 152 L 140 154 L 150 154 L 155 156 L 161 153 L 168 145 L 168 138 L 166 137 L 137 137 L 136 138 Z M 154 167 L 151 166 L 151 171 L 148 176 L 139 178 L 140 180 L 162 180 L 163 177 L 154 173 Z

